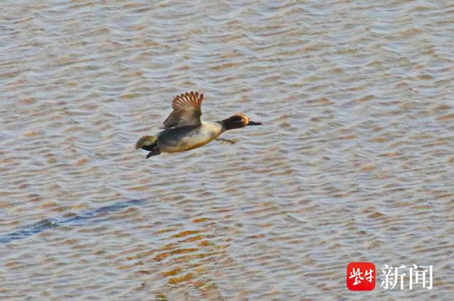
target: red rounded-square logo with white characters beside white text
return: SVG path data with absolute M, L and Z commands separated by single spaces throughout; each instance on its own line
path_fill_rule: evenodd
M 348 263 L 347 288 L 349 290 L 373 290 L 375 288 L 375 264 L 372 262 Z

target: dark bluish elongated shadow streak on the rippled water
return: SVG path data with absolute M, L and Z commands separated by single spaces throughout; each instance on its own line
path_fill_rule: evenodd
M 104 206 L 95 210 L 80 212 L 79 214 L 74 215 L 72 217 L 68 217 L 64 220 L 45 218 L 44 220 L 35 222 L 33 225 L 29 225 L 24 229 L 0 236 L 0 243 L 6 244 L 8 242 L 13 242 L 18 239 L 24 239 L 33 234 L 38 234 L 47 229 L 52 229 L 63 225 L 82 226 L 87 221 L 94 220 L 100 213 L 116 212 L 124 208 L 131 207 L 133 205 L 143 205 L 145 203 L 146 203 L 145 200 L 128 200 L 126 202 L 118 202 L 113 205 Z M 97 219 L 96 222 L 102 222 L 104 220 L 105 219 Z

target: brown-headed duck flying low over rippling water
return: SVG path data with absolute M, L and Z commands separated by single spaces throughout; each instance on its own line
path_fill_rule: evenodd
M 187 92 L 176 96 L 172 101 L 172 113 L 164 120 L 157 135 L 140 137 L 135 149 L 144 149 L 149 153 L 146 159 L 161 153 L 187 152 L 217 139 L 227 130 L 262 125 L 250 120 L 245 114 L 209 122 L 201 120 L 201 103 L 204 94 Z

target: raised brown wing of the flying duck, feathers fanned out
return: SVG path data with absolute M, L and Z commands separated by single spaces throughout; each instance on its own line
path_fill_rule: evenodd
M 198 92 L 184 93 L 175 97 L 172 101 L 173 111 L 160 128 L 201 125 L 201 102 L 203 100 L 204 94 Z

